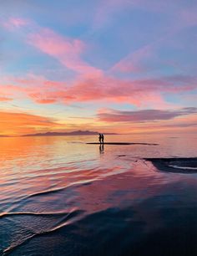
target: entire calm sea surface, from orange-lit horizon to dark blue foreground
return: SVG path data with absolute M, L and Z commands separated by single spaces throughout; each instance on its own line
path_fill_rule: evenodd
M 144 158 L 196 157 L 197 136 L 85 144 L 96 140 L 0 139 L 0 254 L 196 255 L 197 174 L 162 172 Z

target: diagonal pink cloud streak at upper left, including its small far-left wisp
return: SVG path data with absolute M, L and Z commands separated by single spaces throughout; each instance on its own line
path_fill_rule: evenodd
M 91 66 L 82 59 L 81 55 L 88 45 L 78 38 L 64 37 L 50 28 L 42 28 L 37 23 L 23 18 L 9 18 L 4 27 L 12 28 L 14 31 L 23 27 L 28 28 L 21 30 L 28 44 L 57 59 L 63 66 L 78 74 L 91 77 L 103 74 L 101 69 Z

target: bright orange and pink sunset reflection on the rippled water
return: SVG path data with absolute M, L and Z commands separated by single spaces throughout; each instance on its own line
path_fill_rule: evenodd
M 158 142 L 159 146 L 85 144 L 97 139 L 97 136 L 1 138 L 1 201 L 14 202 L 19 197 L 41 192 L 40 200 L 42 197 L 43 202 L 48 202 L 56 197 L 55 191 L 58 195 L 58 191 L 74 189 L 81 195 L 78 203 L 95 211 L 115 204 L 118 199 L 112 196 L 114 192 L 124 193 L 124 200 L 129 201 L 139 197 L 136 192 L 143 192 L 149 182 L 165 182 L 164 174 L 149 172 L 143 161 L 135 162 L 136 159 L 196 154 L 194 138 L 106 136 L 106 141 Z M 174 181 L 172 177 L 168 182 Z

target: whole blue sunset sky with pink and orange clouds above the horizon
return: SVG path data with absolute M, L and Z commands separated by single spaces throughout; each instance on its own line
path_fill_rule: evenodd
M 0 0 L 0 136 L 197 131 L 196 0 Z

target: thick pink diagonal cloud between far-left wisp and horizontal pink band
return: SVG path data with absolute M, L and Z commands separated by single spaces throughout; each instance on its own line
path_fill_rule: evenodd
M 79 74 L 91 76 L 102 74 L 100 69 L 92 67 L 81 59 L 80 55 L 87 47 L 81 40 L 65 38 L 49 28 L 40 28 L 38 33 L 28 34 L 28 44 L 58 59 L 61 64 Z

